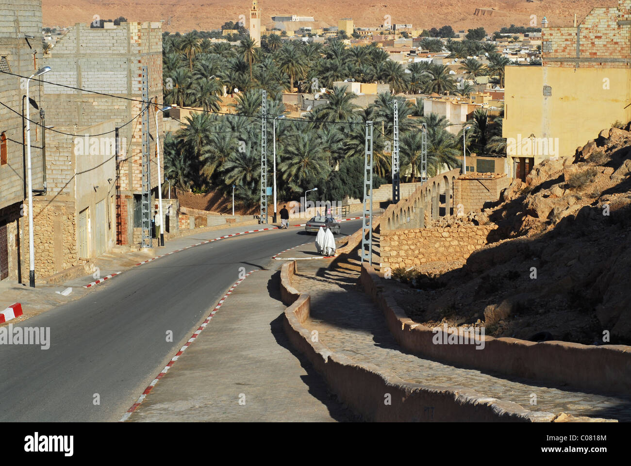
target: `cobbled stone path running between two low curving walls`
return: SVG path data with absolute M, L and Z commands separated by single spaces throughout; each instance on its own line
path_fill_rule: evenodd
M 631 397 L 597 395 L 550 386 L 528 379 L 442 364 L 410 354 L 389 333 L 382 311 L 360 285 L 359 262 L 300 261 L 293 286 L 311 295 L 311 316 L 305 322 L 317 330 L 331 350 L 354 361 L 369 362 L 413 383 L 442 388 L 475 390 L 485 397 L 515 402 L 525 409 L 565 412 L 575 416 L 631 421 Z M 531 400 L 536 395 L 536 405 Z

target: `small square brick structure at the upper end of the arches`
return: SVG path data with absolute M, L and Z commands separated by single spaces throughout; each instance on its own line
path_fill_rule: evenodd
M 508 188 L 509 184 L 510 179 L 505 173 L 468 173 L 457 177 L 454 182 L 456 213 L 464 215 L 483 208 L 486 203 L 497 201 L 502 189 Z M 459 205 L 462 205 L 461 210 Z

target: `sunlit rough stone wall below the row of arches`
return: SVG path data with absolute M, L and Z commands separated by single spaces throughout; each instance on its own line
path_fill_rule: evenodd
M 384 231 L 380 237 L 380 266 L 394 269 L 434 261 L 466 261 L 473 251 L 493 242 L 496 231 L 496 225 Z

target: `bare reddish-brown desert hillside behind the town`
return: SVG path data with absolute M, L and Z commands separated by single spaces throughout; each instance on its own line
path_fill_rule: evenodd
M 529 26 L 531 15 L 548 18 L 550 26 L 572 25 L 574 13 L 579 21 L 595 7 L 616 6 L 615 0 L 322 0 L 296 2 L 261 0 L 262 23 L 273 27 L 275 15 L 314 16 L 316 21 L 337 25 L 339 18 L 353 18 L 356 27 L 380 25 L 390 15 L 392 23 L 411 23 L 432 28 L 451 25 L 455 30 L 484 27 L 488 33 L 515 24 Z M 42 0 L 44 27 L 72 26 L 74 23 L 125 16 L 130 21 L 164 20 L 163 29 L 188 32 L 219 28 L 225 21 L 249 16 L 248 0 Z M 477 15 L 476 13 L 477 11 Z M 539 25 L 539 23 L 537 23 Z

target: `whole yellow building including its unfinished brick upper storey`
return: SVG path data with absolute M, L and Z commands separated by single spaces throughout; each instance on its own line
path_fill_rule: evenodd
M 507 66 L 503 136 L 512 176 L 573 155 L 631 120 L 631 0 L 594 8 L 576 27 L 543 27 L 543 66 Z

